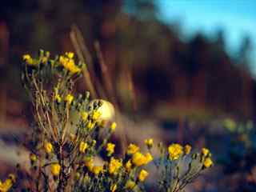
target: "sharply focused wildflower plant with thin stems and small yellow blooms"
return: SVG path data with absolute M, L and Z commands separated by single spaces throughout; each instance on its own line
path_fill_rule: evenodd
M 74 94 L 74 84 L 82 76 L 84 63 L 73 53 L 50 57 L 23 56 L 22 81 L 34 109 L 34 128 L 26 147 L 30 150 L 30 170 L 17 172 L 24 191 L 146 191 L 149 164 L 158 168 L 157 191 L 176 192 L 213 165 L 210 151 L 191 152 L 178 143 L 168 147 L 146 139 L 147 151 L 131 143 L 123 157 L 110 141 L 115 122 L 101 118 L 103 100 L 90 101 L 90 94 Z M 158 147 L 158 157 L 152 148 Z M 98 159 L 101 159 L 100 161 Z M 21 169 L 21 168 L 20 168 Z M 14 182 L 14 177 L 9 178 Z M 9 181 L 8 180 L 8 181 Z M 0 191 L 5 182 L 0 182 Z M 14 185 L 15 186 L 15 185 Z

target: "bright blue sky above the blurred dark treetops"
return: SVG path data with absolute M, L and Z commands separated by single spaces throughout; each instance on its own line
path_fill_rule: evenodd
M 164 22 L 180 22 L 186 37 L 208 36 L 223 29 L 227 50 L 234 53 L 244 36 L 253 41 L 252 72 L 256 76 L 256 0 L 157 0 Z M 254 57 L 253 57 L 254 56 Z

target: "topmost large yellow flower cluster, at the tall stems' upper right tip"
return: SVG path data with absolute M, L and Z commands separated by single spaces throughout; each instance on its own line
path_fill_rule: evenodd
M 59 57 L 59 62 L 64 66 L 64 68 L 70 71 L 71 74 L 77 74 L 81 72 L 81 69 L 74 63 L 74 54 L 66 53 Z

